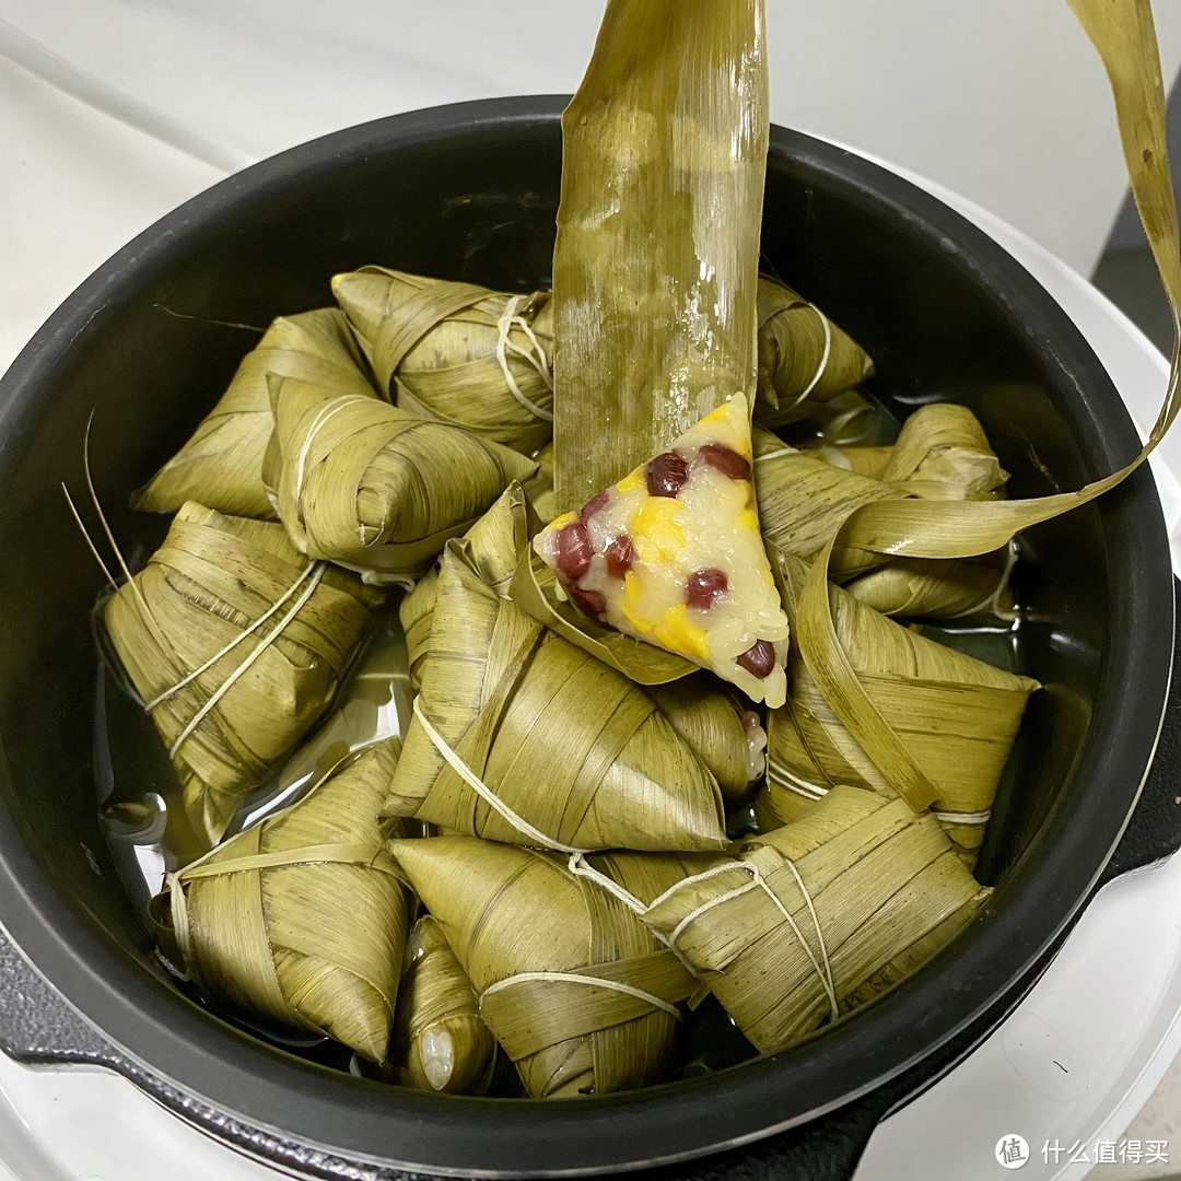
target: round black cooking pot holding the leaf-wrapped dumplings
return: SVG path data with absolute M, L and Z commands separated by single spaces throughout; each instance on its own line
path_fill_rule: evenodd
M 1046 687 L 990 827 L 981 866 L 994 896 L 921 971 L 834 1029 L 641 1092 L 462 1100 L 309 1064 L 174 987 L 97 824 L 86 618 L 100 580 L 58 489 L 81 487 L 86 417 L 97 410 L 99 495 L 116 533 L 131 536 L 120 505 L 253 346 L 241 325 L 322 306 L 329 275 L 371 261 L 521 291 L 547 282 L 562 105 L 420 111 L 248 169 L 102 267 L 0 385 L 0 921 L 142 1085 L 257 1151 L 288 1141 L 429 1170 L 593 1172 L 685 1160 L 855 1110 L 850 1101 L 888 1094 L 883 1084 L 916 1063 L 927 1074 L 946 1064 L 965 1030 L 980 1036 L 1011 1003 L 1100 879 L 1153 756 L 1173 586 L 1142 468 L 1025 539 L 1022 659 Z M 934 396 L 970 405 L 1012 472 L 1011 495 L 1077 488 L 1136 454 L 1118 394 L 1066 315 L 938 201 L 772 129 L 765 210 L 766 259 L 866 345 L 877 391 L 902 409 Z M 260 1138 L 243 1141 L 243 1127 Z M 283 1160 L 327 1168 L 314 1153 Z

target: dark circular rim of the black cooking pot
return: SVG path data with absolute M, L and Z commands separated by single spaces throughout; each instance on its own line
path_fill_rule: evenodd
M 0 470 L 25 442 L 40 390 L 78 338 L 103 331 L 129 273 L 182 249 L 240 204 L 288 191 L 309 171 L 481 125 L 554 125 L 567 102 L 488 99 L 378 119 L 273 156 L 193 197 L 83 282 L 0 379 Z M 1019 311 L 1027 334 L 1053 341 L 1065 379 L 1101 394 L 1085 399 L 1085 420 L 1074 424 L 1076 432 L 1084 428 L 1094 475 L 1115 470 L 1138 450 L 1122 399 L 1081 332 L 983 230 L 908 181 L 801 132 L 772 128 L 776 155 L 855 185 L 895 216 L 950 241 L 957 265 Z M 1037 961 L 1114 850 L 1155 750 L 1173 651 L 1168 539 L 1147 464 L 1104 497 L 1101 522 L 1104 539 L 1118 537 L 1137 566 L 1135 576 L 1124 570 L 1121 578 L 1108 563 L 1113 627 L 1096 717 L 1075 771 L 1090 790 L 1076 792 L 1069 809 L 1059 798 L 973 922 L 918 973 L 822 1031 L 818 1053 L 810 1038 L 705 1078 L 553 1104 L 424 1095 L 327 1072 L 181 997 L 90 926 L 51 885 L 52 867 L 26 844 L 12 808 L 0 823 L 0 924 L 70 1006 L 132 1062 L 280 1138 L 351 1160 L 471 1175 L 574 1175 L 684 1160 L 795 1127 L 881 1085 L 970 1025 Z M 6 803 L 12 797 L 7 763 L 0 765 L 0 795 Z M 1044 855 L 1050 849 L 1053 855 Z M 334 1084 L 327 1096 L 326 1074 Z M 678 1149 L 666 1150 L 673 1143 Z M 637 1144 L 651 1146 L 646 1159 L 635 1160 Z

